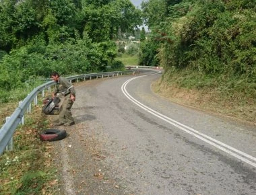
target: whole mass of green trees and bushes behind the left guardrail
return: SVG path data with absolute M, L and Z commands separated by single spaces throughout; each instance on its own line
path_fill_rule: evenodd
M 51 71 L 119 67 L 115 39 L 139 24 L 129 0 L 0 1 L 0 103 L 21 100 Z

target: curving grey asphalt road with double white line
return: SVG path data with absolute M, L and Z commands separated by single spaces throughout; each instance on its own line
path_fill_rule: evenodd
M 75 85 L 60 194 L 256 194 L 255 128 L 159 97 L 160 76 Z

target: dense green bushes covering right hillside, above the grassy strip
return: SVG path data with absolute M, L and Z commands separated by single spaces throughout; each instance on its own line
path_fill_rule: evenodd
M 256 15 L 252 1 L 163 0 L 166 9 L 159 8 L 162 17 L 156 21 L 150 10 L 156 12 L 153 5 L 159 1 L 143 4 L 152 33 L 142 44 L 141 64 L 157 57 L 166 71 L 191 69 L 213 78 L 241 79 L 247 87 L 255 83 Z

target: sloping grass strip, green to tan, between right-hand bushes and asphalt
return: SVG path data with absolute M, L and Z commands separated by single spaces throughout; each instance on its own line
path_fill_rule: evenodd
M 193 70 L 166 71 L 155 90 L 170 99 L 233 116 L 256 121 L 256 83 L 243 77 L 199 74 Z

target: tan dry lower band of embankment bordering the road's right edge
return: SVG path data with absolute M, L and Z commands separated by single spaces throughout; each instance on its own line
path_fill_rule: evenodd
M 160 80 L 152 83 L 152 91 L 177 104 L 190 106 L 256 126 L 255 100 L 247 100 L 246 104 L 243 104 L 239 100 L 232 100 L 231 97 L 229 99 L 223 98 L 214 89 L 209 89 L 208 91 L 185 89 L 169 85 Z

